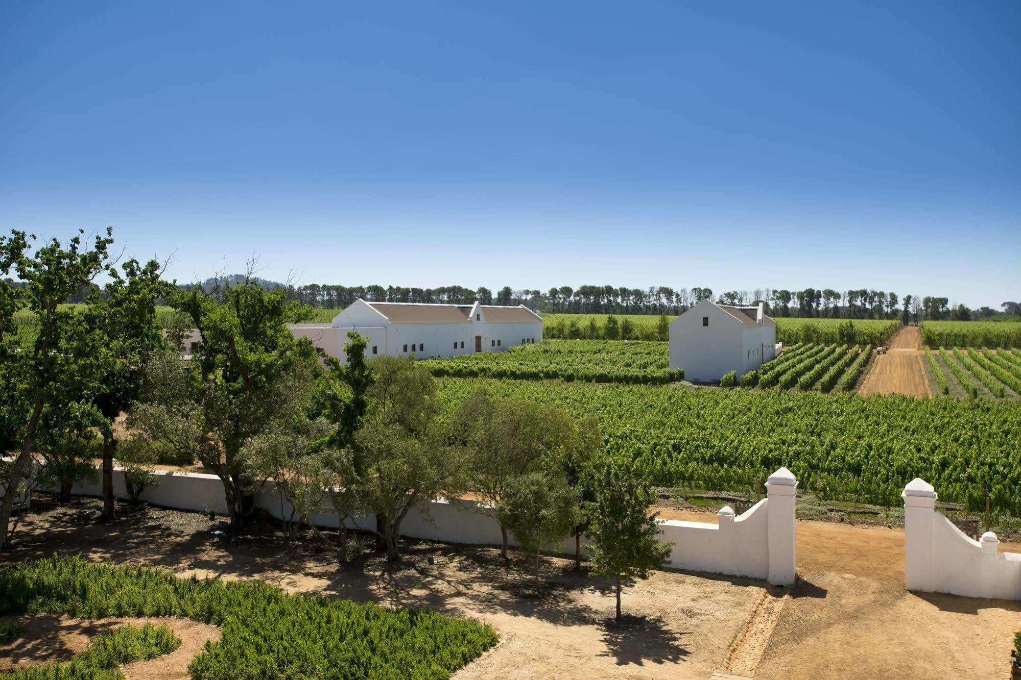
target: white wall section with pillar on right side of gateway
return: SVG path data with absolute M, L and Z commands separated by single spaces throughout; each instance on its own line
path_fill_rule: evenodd
M 936 492 L 921 479 L 904 487 L 905 587 L 967 597 L 1021 599 L 1021 554 L 1001 553 L 996 534 L 969 538 L 936 512 Z

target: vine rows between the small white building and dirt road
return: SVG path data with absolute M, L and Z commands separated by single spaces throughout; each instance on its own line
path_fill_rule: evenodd
M 828 393 L 839 385 L 852 391 L 872 359 L 872 346 L 810 345 L 799 343 L 762 368 L 741 376 L 744 387 L 817 389 Z

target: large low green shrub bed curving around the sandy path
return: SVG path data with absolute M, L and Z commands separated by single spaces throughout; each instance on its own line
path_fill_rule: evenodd
M 53 557 L 0 568 L 0 614 L 181 616 L 220 626 L 198 680 L 446 678 L 496 643 L 488 626 L 428 611 L 287 594 L 260 581 L 181 579 Z

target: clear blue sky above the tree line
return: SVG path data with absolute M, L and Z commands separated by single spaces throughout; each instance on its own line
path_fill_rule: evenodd
M 204 277 L 1021 298 L 1021 3 L 0 4 L 0 228 Z

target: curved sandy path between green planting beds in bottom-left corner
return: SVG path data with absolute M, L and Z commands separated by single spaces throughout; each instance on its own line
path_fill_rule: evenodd
M 148 661 L 137 661 L 121 667 L 128 680 L 186 680 L 188 664 L 202 651 L 205 641 L 220 639 L 220 628 L 177 617 L 107 618 L 97 621 L 72 619 L 66 616 L 36 615 L 10 617 L 25 625 L 25 636 L 0 646 L 0 671 L 26 668 L 48 661 L 68 661 L 85 650 L 89 640 L 103 628 L 147 623 L 169 626 L 181 646 L 168 655 Z

